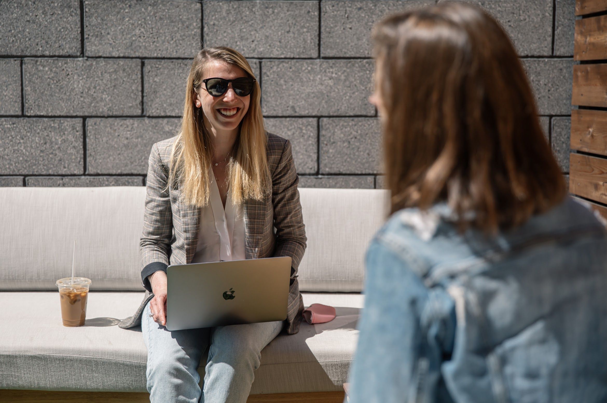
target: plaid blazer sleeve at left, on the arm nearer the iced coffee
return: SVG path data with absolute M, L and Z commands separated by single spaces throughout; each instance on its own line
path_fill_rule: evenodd
M 148 164 L 143 233 L 139 251 L 143 267 L 141 284 L 152 292 L 152 285 L 147 277 L 158 270 L 166 273 L 166 267 L 169 265 L 173 218 L 169 191 L 163 191 L 169 178 L 168 170 L 160 160 L 156 143 L 152 146 Z

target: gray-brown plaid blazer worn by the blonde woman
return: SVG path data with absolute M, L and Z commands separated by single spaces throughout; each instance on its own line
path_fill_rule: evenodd
M 297 267 L 304 257 L 307 238 L 297 184 L 291 143 L 276 134 L 267 133 L 266 153 L 272 174 L 272 193 L 263 201 L 244 202 L 245 252 L 247 259 L 290 256 L 291 280 L 283 332 L 295 334 L 302 320 L 304 301 L 299 293 Z M 148 275 L 166 272 L 169 264 L 191 263 L 198 243 L 200 208 L 181 202 L 180 189 L 168 182 L 171 146 L 177 136 L 154 143 L 149 156 L 147 194 L 140 242 L 141 285 L 146 289 L 135 314 L 120 321 L 121 328 L 140 325 L 141 314 L 154 297 Z M 274 233 L 276 227 L 276 233 Z

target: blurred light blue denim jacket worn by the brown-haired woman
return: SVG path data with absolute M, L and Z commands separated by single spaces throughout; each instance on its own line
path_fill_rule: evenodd
M 365 260 L 350 402 L 607 402 L 607 232 L 568 196 L 460 235 L 446 204 L 395 212 Z

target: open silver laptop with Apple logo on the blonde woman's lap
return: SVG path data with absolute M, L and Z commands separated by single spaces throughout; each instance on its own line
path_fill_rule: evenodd
M 168 330 L 287 319 L 291 257 L 166 268 Z

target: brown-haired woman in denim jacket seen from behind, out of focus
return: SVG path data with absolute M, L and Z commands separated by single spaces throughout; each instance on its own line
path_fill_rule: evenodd
M 350 402 L 607 401 L 607 232 L 567 195 L 503 28 L 446 1 L 373 39 L 391 209 Z

